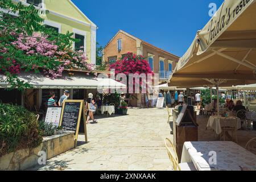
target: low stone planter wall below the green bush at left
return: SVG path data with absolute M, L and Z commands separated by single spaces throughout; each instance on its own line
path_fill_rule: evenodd
M 74 148 L 74 132 L 65 131 L 63 134 L 44 137 L 42 144 L 29 150 L 28 148 L 6 154 L 0 158 L 0 170 L 22 171 L 38 165 L 41 157 L 39 152 L 46 152 L 46 160 Z

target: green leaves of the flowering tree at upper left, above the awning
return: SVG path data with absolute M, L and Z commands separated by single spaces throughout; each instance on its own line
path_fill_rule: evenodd
M 39 10 L 35 9 L 33 5 L 24 6 L 22 2 L 15 4 L 11 0 L 1 0 L 0 8 L 7 11 L 6 14 L 0 10 L 0 73 L 6 76 L 5 80 L 0 81 L 5 81 L 11 85 L 10 89 L 31 88 L 28 82 L 19 80 L 17 73 L 9 71 L 11 61 L 15 60 L 14 66 L 24 69 L 26 72 L 38 73 L 39 68 L 57 72 L 64 60 L 76 56 L 71 48 L 73 42 L 79 40 L 72 38 L 73 33 L 59 34 L 52 28 L 46 28 L 43 25 L 44 19 L 40 18 Z M 18 16 L 11 16 L 8 13 Z M 35 36 L 35 34 L 39 36 Z M 46 56 L 39 53 L 28 55 L 25 50 L 19 49 L 13 44 L 18 40 L 19 35 L 23 35 L 25 39 L 36 38 L 39 42 L 40 40 L 47 40 L 47 42 L 57 46 L 57 51 L 67 53 L 63 57 Z

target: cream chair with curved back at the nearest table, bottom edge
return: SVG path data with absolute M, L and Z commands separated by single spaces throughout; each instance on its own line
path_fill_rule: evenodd
M 168 153 L 169 159 L 171 160 L 174 171 L 197 171 L 193 163 L 179 164 L 177 152 L 175 150 L 174 144 L 171 142 L 170 139 L 166 138 L 164 140 L 164 143 L 166 144 L 167 153 Z M 170 144 L 170 147 L 168 147 L 167 143 Z M 174 152 L 172 152 L 171 150 L 173 150 Z

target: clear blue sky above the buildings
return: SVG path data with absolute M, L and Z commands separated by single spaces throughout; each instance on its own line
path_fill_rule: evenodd
M 209 4 L 223 0 L 72 0 L 97 26 L 101 46 L 119 29 L 183 56 L 210 19 Z

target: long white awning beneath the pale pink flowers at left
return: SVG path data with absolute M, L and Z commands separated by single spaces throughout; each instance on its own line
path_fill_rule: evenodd
M 0 88 L 7 88 L 9 85 L 3 82 L 6 77 L 0 75 Z M 52 80 L 42 74 L 20 73 L 19 79 L 29 82 L 33 88 L 40 89 L 122 89 L 126 85 L 110 78 L 95 78 L 85 74 L 76 73 L 75 76 L 64 75 L 63 78 Z

